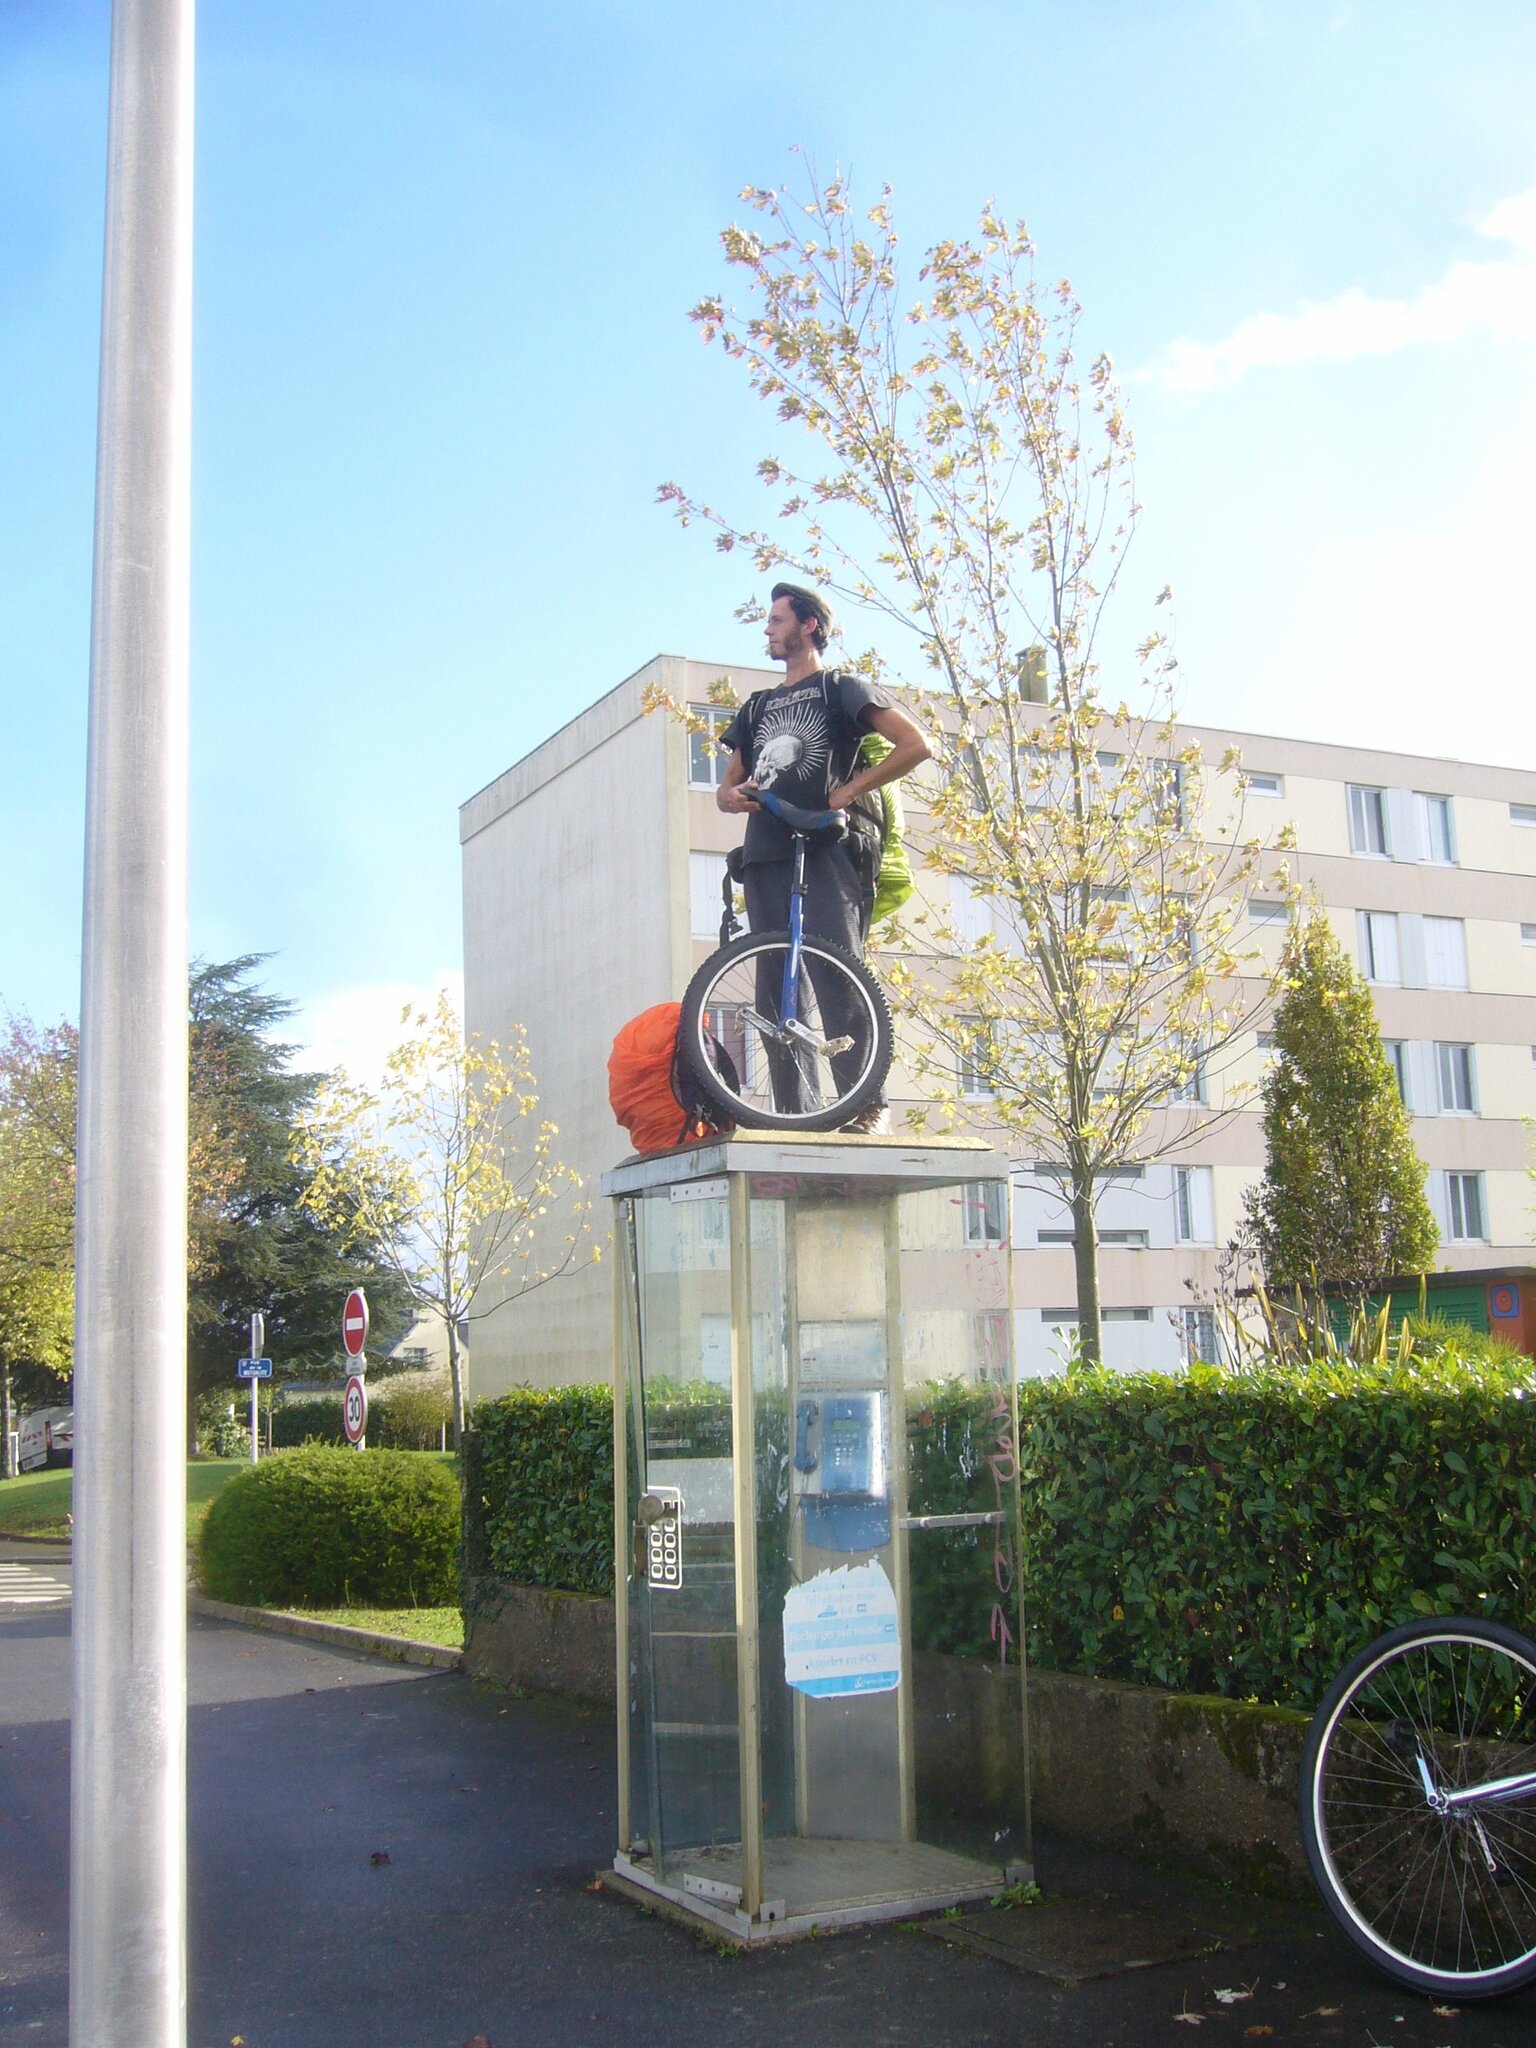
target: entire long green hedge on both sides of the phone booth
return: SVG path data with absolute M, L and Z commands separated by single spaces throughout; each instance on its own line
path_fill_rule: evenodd
M 729 1415 L 719 1389 L 666 1389 Z M 1536 1391 L 1526 1360 L 1417 1356 L 1243 1374 L 1081 1372 L 1020 1386 L 1030 1655 L 1061 1671 L 1307 1706 L 1415 1614 L 1536 1624 Z M 489 1571 L 612 1589 L 604 1386 L 475 1411 Z M 758 1417 L 760 1509 L 782 1507 L 782 1419 Z M 913 1513 L 991 1505 L 987 1403 L 909 1403 Z M 772 1452 L 764 1456 L 764 1452 Z M 977 1554 L 985 1550 L 987 1554 Z M 991 1536 L 913 1538 L 913 1640 L 985 1655 Z

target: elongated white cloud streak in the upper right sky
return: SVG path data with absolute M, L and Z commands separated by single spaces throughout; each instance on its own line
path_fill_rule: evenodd
M 1507 244 L 1511 254 L 1456 262 L 1413 299 L 1372 299 L 1352 289 L 1296 313 L 1255 313 L 1223 342 L 1169 342 L 1128 381 L 1157 383 L 1165 391 L 1210 391 L 1260 369 L 1386 356 L 1468 334 L 1536 340 L 1536 188 L 1499 201 L 1475 227 L 1489 242 Z

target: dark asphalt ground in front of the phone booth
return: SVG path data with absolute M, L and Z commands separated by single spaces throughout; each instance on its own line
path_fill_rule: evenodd
M 68 2042 L 68 1628 L 0 1606 L 0 2048 Z M 1073 1989 L 899 1927 L 723 1956 L 590 1890 L 606 1718 L 209 1620 L 188 1686 L 193 2048 L 1190 2048 L 1190 2015 L 1204 2048 L 1536 2042 L 1536 1993 L 1442 2015 L 1264 1905 L 1257 1946 Z M 1141 1903 L 1169 1884 L 1069 1845 L 1038 1868 Z

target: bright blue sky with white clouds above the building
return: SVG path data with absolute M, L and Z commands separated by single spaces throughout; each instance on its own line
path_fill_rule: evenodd
M 78 1006 L 106 0 L 0 8 L 0 1004 Z M 985 199 L 1128 381 L 1204 723 L 1536 764 L 1536 10 L 203 0 L 193 948 L 315 1057 L 459 965 L 459 803 L 657 651 L 774 444 L 686 309 L 795 145 Z M 1137 590 L 1130 592 L 1137 602 Z M 1124 621 L 1126 639 L 1143 627 Z M 592 819 L 602 829 L 602 819 Z

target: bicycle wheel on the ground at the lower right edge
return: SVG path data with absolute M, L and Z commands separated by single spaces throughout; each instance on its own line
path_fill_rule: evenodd
M 1425 1620 L 1364 1649 L 1307 1731 L 1300 1835 L 1325 1907 L 1397 1982 L 1491 1999 L 1536 1978 L 1536 1642 Z

